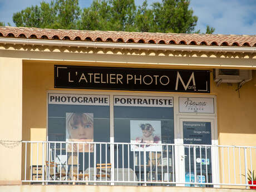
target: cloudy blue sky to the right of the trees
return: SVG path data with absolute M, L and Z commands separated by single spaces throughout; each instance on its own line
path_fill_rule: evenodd
M 201 29 L 201 32 L 205 32 L 208 24 L 215 28 L 214 33 L 256 34 L 256 2 L 191 0 L 190 7 L 199 18 L 196 29 Z

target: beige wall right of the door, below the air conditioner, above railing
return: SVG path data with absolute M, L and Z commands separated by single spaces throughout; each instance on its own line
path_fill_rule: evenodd
M 253 71 L 253 80 L 239 90 L 240 98 L 237 83 L 211 86 L 217 96 L 219 145 L 256 146 L 255 79 L 256 71 Z

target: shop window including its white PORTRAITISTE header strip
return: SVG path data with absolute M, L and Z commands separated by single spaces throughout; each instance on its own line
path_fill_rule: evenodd
M 171 158 L 173 151 L 170 146 L 167 150 L 166 145 L 147 144 L 174 144 L 173 97 L 114 96 L 114 139 L 115 142 L 135 144 L 129 149 L 127 145 L 124 149 L 115 148 L 115 166 L 118 168 L 134 167 L 134 161 L 128 164 L 128 150 L 130 159 L 135 159 L 136 166 L 145 162 L 147 165 L 152 164 L 152 154 L 153 164 L 156 165 L 157 158 L 161 159 L 161 151 L 169 151 Z M 117 151 L 124 154 L 124 163 L 123 155 L 117 155 Z M 165 158 L 166 154 L 164 152 Z

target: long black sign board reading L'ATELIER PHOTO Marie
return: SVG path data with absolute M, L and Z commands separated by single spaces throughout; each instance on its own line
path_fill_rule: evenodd
M 56 88 L 210 92 L 210 71 L 55 65 Z

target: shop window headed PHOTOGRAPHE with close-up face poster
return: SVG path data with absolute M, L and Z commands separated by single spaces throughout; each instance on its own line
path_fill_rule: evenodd
M 109 96 L 102 97 L 109 99 Z M 72 98 L 76 101 L 73 104 Z M 87 105 L 86 99 L 90 98 L 91 103 Z M 100 99 L 101 96 L 96 95 L 49 93 L 48 141 L 110 142 L 110 107 L 108 101 L 102 104 Z M 72 163 L 78 172 L 86 170 L 89 163 L 93 167 L 95 157 L 96 163 L 110 163 L 109 144 L 51 143 L 49 150 L 49 159 L 68 164 L 68 172 Z

